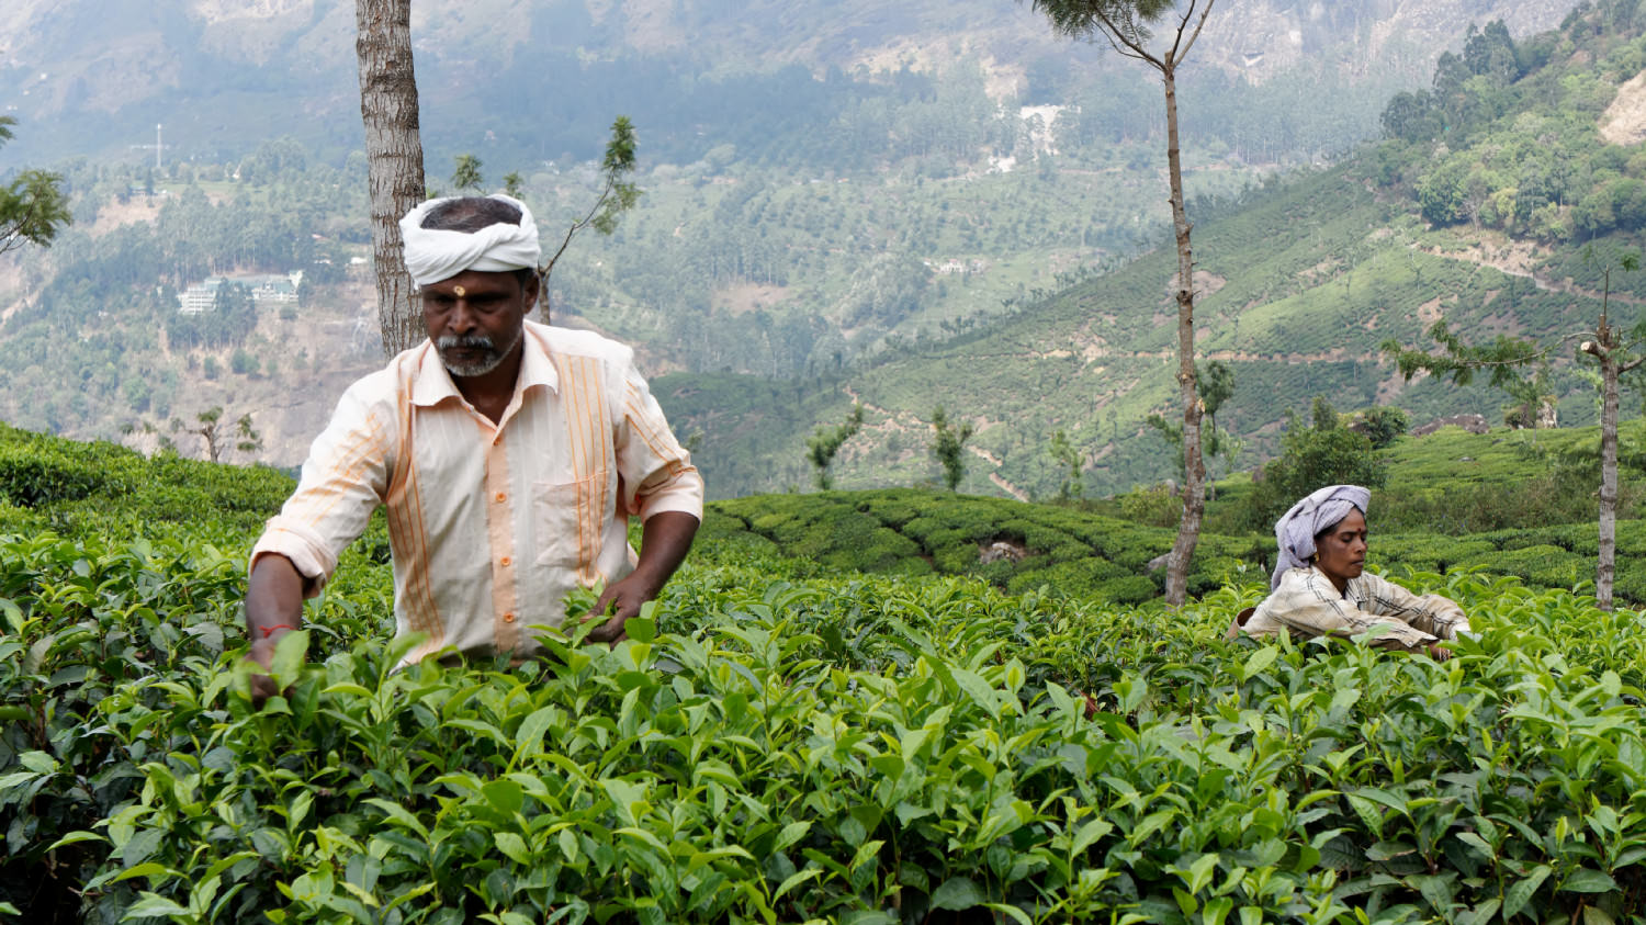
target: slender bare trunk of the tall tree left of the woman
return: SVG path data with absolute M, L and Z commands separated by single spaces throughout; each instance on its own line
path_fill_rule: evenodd
M 1165 163 L 1172 184 L 1172 229 L 1177 237 L 1177 387 L 1183 400 L 1183 520 L 1165 560 L 1165 602 L 1188 597 L 1188 563 L 1200 543 L 1207 512 L 1207 464 L 1200 458 L 1200 397 L 1195 390 L 1195 257 L 1188 247 L 1188 212 L 1183 209 L 1183 168 L 1177 151 L 1177 63 L 1165 58 Z

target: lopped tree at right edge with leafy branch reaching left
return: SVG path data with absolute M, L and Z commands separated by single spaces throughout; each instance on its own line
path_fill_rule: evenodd
M 1468 385 L 1476 372 L 1490 372 L 1491 385 L 1539 402 L 1542 393 L 1536 385 L 1539 377 L 1527 385 L 1527 380 L 1519 379 L 1519 370 L 1537 367 L 1541 372 L 1549 352 L 1569 341 L 1580 341 L 1579 357 L 1590 356 L 1600 362 L 1600 553 L 1595 561 L 1595 602 L 1600 609 L 1610 611 L 1618 553 L 1618 382 L 1625 374 L 1646 364 L 1646 319 L 1623 328 L 1611 318 L 1611 273 L 1639 270 L 1638 253 L 1597 257 L 1590 245 L 1583 249 L 1583 260 L 1598 262 L 1602 275 L 1600 321 L 1592 331 L 1574 331 L 1547 347 L 1501 334 L 1488 346 L 1472 347 L 1463 344 L 1442 318 L 1429 331 L 1442 352 L 1406 349 L 1399 341 L 1388 341 L 1383 349 L 1394 357 L 1407 380 L 1422 370 L 1447 375 L 1457 385 Z

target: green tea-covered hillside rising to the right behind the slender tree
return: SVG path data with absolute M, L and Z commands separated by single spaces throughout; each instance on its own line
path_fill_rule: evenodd
M 1396 97 L 1388 142 L 1193 211 L 1197 342 L 1203 360 L 1234 372 L 1218 425 L 1244 441 L 1243 456 L 1221 466 L 1271 454 L 1286 415 L 1305 413 L 1314 395 L 1341 410 L 1399 405 L 1416 423 L 1455 413 L 1500 421 L 1501 392 L 1407 383 L 1383 357 L 1391 339 L 1429 344 L 1425 331 L 1439 318 L 1473 342 L 1516 334 L 1555 346 L 1593 324 L 1603 260 L 1585 258 L 1585 247 L 1603 257 L 1638 245 L 1646 221 L 1646 158 L 1600 138 L 1616 87 L 1646 64 L 1639 28 L 1574 18 L 1565 31 L 1523 36 L 1518 46 L 1488 33 L 1496 38 L 1483 33 L 1485 46 L 1508 43 L 1526 59 L 1513 79 L 1468 82 L 1465 59 L 1450 56 L 1442 76 L 1453 82 L 1442 86 L 1452 95 Z M 724 472 L 734 492 L 805 484 L 803 420 L 838 420 L 854 398 L 869 423 L 836 462 L 841 487 L 933 477 L 925 421 L 942 403 L 976 428 L 968 490 L 1047 494 L 1057 484 L 1050 438 L 1065 430 L 1083 448 L 1088 492 L 1118 492 L 1177 471 L 1142 426 L 1175 400 L 1165 285 L 1174 263 L 1162 249 L 958 337 L 904 342 L 772 402 L 760 411 L 770 426 L 737 431 L 747 438 L 723 438 L 711 425 L 718 403 L 744 398 L 698 388 L 691 377 L 668 387 L 681 395 L 680 426 L 706 435 L 704 469 Z M 1633 318 L 1646 278 L 1613 273 L 1611 286 L 1615 311 L 1625 313 L 1615 323 Z M 1567 349 L 1555 349 L 1551 364 L 1559 420 L 1593 421 L 1582 367 Z M 802 425 L 785 436 L 785 420 Z

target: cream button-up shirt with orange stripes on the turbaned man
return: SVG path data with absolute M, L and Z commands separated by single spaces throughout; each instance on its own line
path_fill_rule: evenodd
M 703 479 L 634 351 L 532 321 L 522 342 L 495 425 L 428 341 L 351 385 L 252 563 L 290 558 L 313 596 L 382 504 L 397 635 L 428 637 L 405 662 L 446 647 L 527 657 L 530 627 L 560 625 L 566 591 L 634 569 L 630 515 L 703 518 Z

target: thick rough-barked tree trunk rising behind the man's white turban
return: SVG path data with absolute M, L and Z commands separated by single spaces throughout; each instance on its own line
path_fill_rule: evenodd
M 372 196 L 372 267 L 384 354 L 425 337 L 423 309 L 400 250 L 400 217 L 423 201 L 416 74 L 412 71 L 412 0 L 356 0 L 360 119 Z

